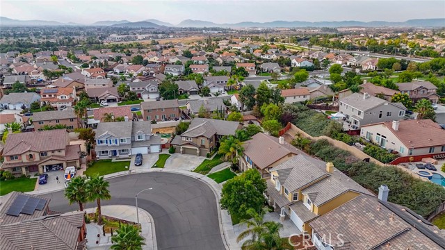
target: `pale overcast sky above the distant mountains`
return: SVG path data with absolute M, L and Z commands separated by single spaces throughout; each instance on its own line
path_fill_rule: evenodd
M 1 0 L 0 15 L 12 19 L 41 19 L 91 24 L 104 20 L 127 19 L 138 22 L 159 19 L 178 24 L 184 19 L 216 23 L 243 21 L 389 21 L 443 18 L 445 1 L 142 1 L 142 0 Z

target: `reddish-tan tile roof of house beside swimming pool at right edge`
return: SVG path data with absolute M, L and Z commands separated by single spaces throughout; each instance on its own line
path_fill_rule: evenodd
M 392 122 L 367 124 L 362 127 L 377 126 L 379 124 L 387 127 L 408 149 L 445 144 L 445 130 L 430 119 L 402 120 L 397 131 L 392 128 Z

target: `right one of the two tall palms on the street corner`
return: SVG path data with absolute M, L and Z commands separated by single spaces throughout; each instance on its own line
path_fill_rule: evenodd
M 104 176 L 94 176 L 87 183 L 88 198 L 90 201 L 97 201 L 97 224 L 102 225 L 102 210 L 100 207 L 101 199 L 111 199 L 108 187 L 110 183 L 104 181 Z

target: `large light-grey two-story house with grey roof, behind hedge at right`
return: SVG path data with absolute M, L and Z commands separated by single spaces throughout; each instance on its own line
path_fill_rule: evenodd
M 369 94 L 354 93 L 339 100 L 339 112 L 353 128 L 377 122 L 401 120 L 407 108 L 402 103 L 390 103 Z

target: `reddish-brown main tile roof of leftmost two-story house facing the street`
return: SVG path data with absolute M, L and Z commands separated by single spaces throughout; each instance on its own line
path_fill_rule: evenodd
M 65 129 L 13 133 L 6 139 L 3 155 L 14 156 L 29 150 L 41 152 L 65 149 L 67 142 L 68 132 Z

